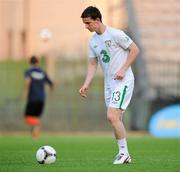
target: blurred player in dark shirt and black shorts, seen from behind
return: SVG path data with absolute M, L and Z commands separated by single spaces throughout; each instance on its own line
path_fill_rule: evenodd
M 31 126 L 31 136 L 38 138 L 40 132 L 40 117 L 45 103 L 45 84 L 53 88 L 53 83 L 39 67 L 36 56 L 29 61 L 31 67 L 25 71 L 25 96 L 27 104 L 25 108 L 25 122 Z

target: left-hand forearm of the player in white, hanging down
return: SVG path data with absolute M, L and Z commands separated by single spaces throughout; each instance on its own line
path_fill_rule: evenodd
M 94 78 L 94 75 L 97 70 L 97 66 L 98 66 L 97 59 L 90 58 L 89 63 L 88 63 L 86 79 L 84 81 L 83 86 L 79 89 L 79 93 L 82 97 L 87 97 L 87 91 L 88 91 L 89 85 L 91 84 Z

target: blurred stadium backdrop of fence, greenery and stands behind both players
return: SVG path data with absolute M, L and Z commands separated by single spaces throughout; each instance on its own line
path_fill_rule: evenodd
M 133 65 L 136 85 L 126 128 L 146 131 L 155 112 L 180 102 L 179 0 L 0 0 L 0 132 L 27 131 L 23 79 L 34 54 L 55 82 L 54 93 L 47 89 L 43 130 L 111 130 L 100 69 L 87 100 L 78 93 L 91 36 L 80 15 L 89 5 L 141 49 Z

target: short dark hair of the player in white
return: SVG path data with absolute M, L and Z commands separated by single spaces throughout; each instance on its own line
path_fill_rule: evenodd
M 99 11 L 98 8 L 93 7 L 93 6 L 87 7 L 81 14 L 81 18 L 86 18 L 86 17 L 90 17 L 93 20 L 96 20 L 97 18 L 99 18 L 100 21 L 102 22 L 101 12 Z

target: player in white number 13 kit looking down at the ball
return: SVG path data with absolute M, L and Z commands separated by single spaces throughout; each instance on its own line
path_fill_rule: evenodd
M 114 130 L 119 148 L 113 164 L 130 163 L 123 114 L 133 94 L 134 75 L 131 64 L 135 61 L 139 48 L 122 30 L 104 25 L 98 8 L 87 7 L 81 18 L 86 29 L 95 33 L 89 42 L 87 75 L 79 93 L 82 97 L 87 97 L 99 63 L 104 73 L 107 119 Z

